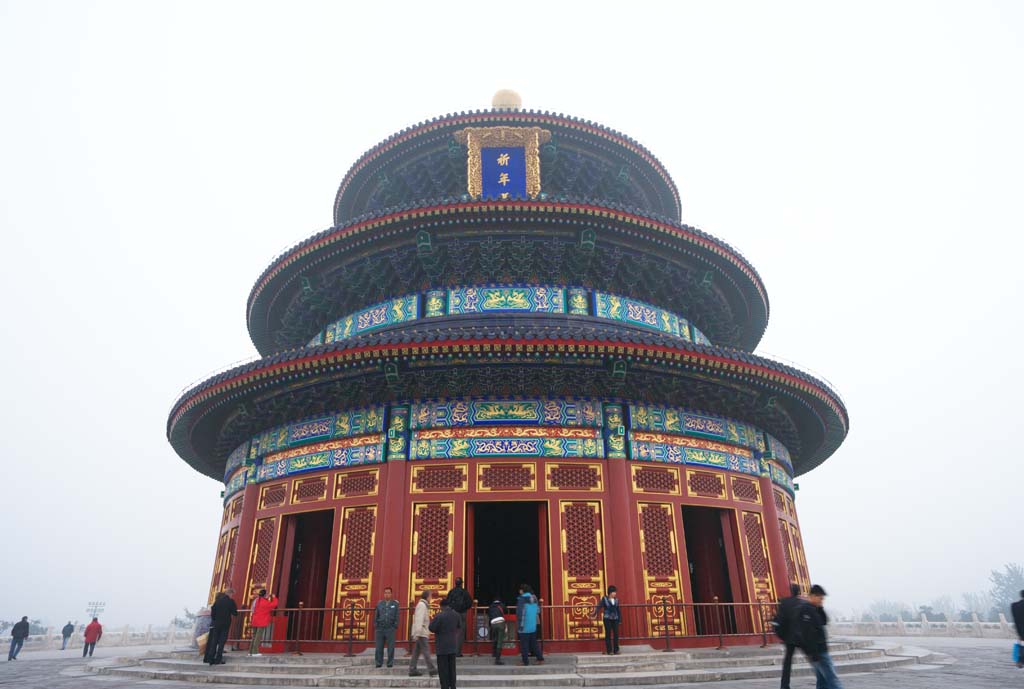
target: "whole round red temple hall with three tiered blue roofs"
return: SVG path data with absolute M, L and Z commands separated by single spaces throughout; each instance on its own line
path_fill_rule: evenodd
M 256 279 L 261 358 L 174 403 L 169 441 L 224 484 L 210 598 L 267 589 L 329 650 L 373 643 L 385 587 L 526 583 L 546 641 L 588 650 L 614 585 L 624 640 L 760 642 L 758 606 L 810 584 L 794 478 L 843 401 L 753 353 L 764 284 L 650 152 L 504 94 L 364 154 Z

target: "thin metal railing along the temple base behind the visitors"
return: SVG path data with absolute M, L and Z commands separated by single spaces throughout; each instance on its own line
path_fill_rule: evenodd
M 411 645 L 415 605 L 399 608 L 397 640 Z M 433 614 L 434 610 L 431 610 Z M 653 603 L 620 605 L 620 639 L 671 650 L 687 646 L 723 648 L 731 645 L 773 642 L 769 620 L 775 606 L 769 603 Z M 250 611 L 240 611 L 228 635 L 228 644 L 248 648 L 252 640 Z M 515 608 L 509 609 L 505 647 L 516 647 Z M 486 606 L 466 614 L 463 652 L 489 654 L 493 641 Z M 342 652 L 349 655 L 374 646 L 374 608 L 351 604 L 336 608 L 279 608 L 271 616 L 263 652 Z M 558 651 L 597 650 L 603 644 L 604 626 L 592 605 L 545 605 L 541 602 L 538 635 L 545 648 Z

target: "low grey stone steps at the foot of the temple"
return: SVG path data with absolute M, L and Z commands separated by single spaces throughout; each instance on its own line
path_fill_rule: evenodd
M 425 670 L 422 677 L 409 677 L 409 661 L 396 657 L 392 669 L 376 669 L 373 656 L 264 655 L 249 657 L 229 653 L 226 664 L 210 668 L 194 653 L 108 658 L 90 663 L 100 676 L 139 682 L 165 680 L 174 683 L 225 684 L 276 687 L 435 687 L 436 678 Z M 843 674 L 867 673 L 920 663 L 941 664 L 948 656 L 882 641 L 839 641 L 833 644 L 833 659 Z M 625 687 L 671 688 L 697 682 L 722 682 L 778 678 L 782 652 L 768 648 L 693 649 L 659 652 L 650 647 L 624 648 L 616 656 L 600 654 L 551 654 L 543 665 L 518 664 L 518 656 L 506 656 L 505 665 L 495 665 L 486 656 L 459 659 L 461 687 Z M 813 675 L 798 653 L 794 677 Z

